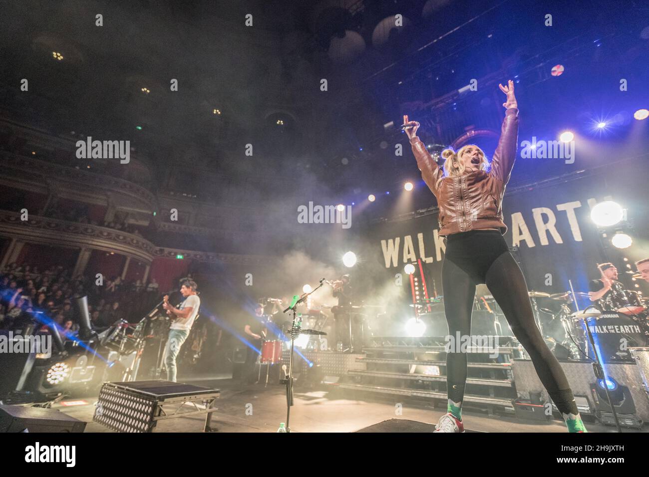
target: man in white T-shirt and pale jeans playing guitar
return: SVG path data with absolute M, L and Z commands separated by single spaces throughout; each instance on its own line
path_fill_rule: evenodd
M 176 382 L 176 357 L 180 351 L 182 343 L 190 334 L 191 325 L 194 323 L 201 306 L 201 299 L 196 293 L 198 288 L 193 280 L 182 280 L 180 293 L 185 297 L 183 302 L 176 308 L 167 301 L 162 305 L 167 310 L 167 315 L 171 317 L 171 327 L 169 328 L 169 337 L 165 347 L 165 365 L 167 367 L 167 380 Z

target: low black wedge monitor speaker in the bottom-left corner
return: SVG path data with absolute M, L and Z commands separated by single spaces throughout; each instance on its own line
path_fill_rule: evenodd
M 86 422 L 61 411 L 0 404 L 0 432 L 84 432 Z

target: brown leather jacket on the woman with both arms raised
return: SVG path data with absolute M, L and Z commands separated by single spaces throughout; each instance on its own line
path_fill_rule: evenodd
M 517 108 L 505 112 L 489 173 L 476 171 L 445 177 L 439 188 L 437 180 L 443 176 L 443 169 L 437 165 L 417 136 L 410 140 L 421 177 L 437 198 L 440 236 L 479 228 L 500 228 L 502 234 L 507 231 L 507 226 L 502 221 L 502 197 L 516 158 L 518 114 Z

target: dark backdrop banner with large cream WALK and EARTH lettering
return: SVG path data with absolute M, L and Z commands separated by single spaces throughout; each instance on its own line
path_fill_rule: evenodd
M 567 291 L 571 280 L 575 291 L 588 291 L 588 280 L 599 277 L 596 264 L 613 262 L 628 289 L 643 291 L 646 284 L 635 287 L 639 282 L 633 282 L 624 271 L 631 270 L 627 264 L 635 270 L 633 262 L 649 256 L 646 177 L 646 173 L 638 174 L 634 165 L 626 165 L 508 190 L 503 202 L 508 226 L 505 239 L 513 247 L 528 288 L 557 293 Z M 611 245 L 611 232 L 615 230 L 603 237 L 591 219 L 591 208 L 606 200 L 626 209 L 627 221 L 620 228 L 633 238 L 628 249 L 615 249 Z M 365 270 L 365 275 L 371 276 L 370 287 L 380 286 L 382 280 L 394 280 L 398 273 L 405 277 L 404 265 L 421 260 L 428 294 L 435 290 L 442 295 L 441 264 L 446 247 L 438 231 L 437 212 L 370 226 L 363 233 L 363 253 L 372 257 Z M 404 279 L 403 286 L 410 287 L 410 281 Z

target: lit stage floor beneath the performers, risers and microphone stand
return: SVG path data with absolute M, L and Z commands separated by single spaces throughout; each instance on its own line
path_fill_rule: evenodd
M 280 385 L 246 385 L 223 378 L 202 378 L 200 380 L 180 380 L 188 384 L 220 389 L 217 400 L 218 411 L 213 414 L 212 426 L 219 432 L 276 432 L 280 422 L 286 421 L 286 397 Z M 342 398 L 341 393 L 327 391 L 295 390 L 295 406 L 291 408 L 291 430 L 293 432 L 356 432 L 390 419 L 418 421 L 435 424 L 445 412 L 443 408 L 422 408 L 404 403 L 402 413 L 397 415 L 395 404 L 370 402 Z M 97 393 L 98 395 L 99 393 Z M 395 397 L 395 403 L 398 402 Z M 87 404 L 63 406 L 58 409 L 67 415 L 88 422 L 86 432 L 113 432 L 102 424 L 92 422 L 94 404 L 97 396 L 68 398 L 67 401 L 84 400 Z M 463 411 L 465 428 L 474 432 L 567 432 L 561 421 L 535 423 L 519 421 L 514 417 Z M 154 432 L 202 432 L 204 417 L 184 417 L 162 421 Z M 586 422 L 589 432 L 615 432 L 615 428 L 602 426 L 596 422 Z M 429 432 L 432 426 L 404 425 L 392 426 L 393 432 Z M 365 431 L 367 432 L 367 431 Z M 624 432 L 639 432 L 624 429 Z M 643 432 L 649 432 L 647 426 Z

